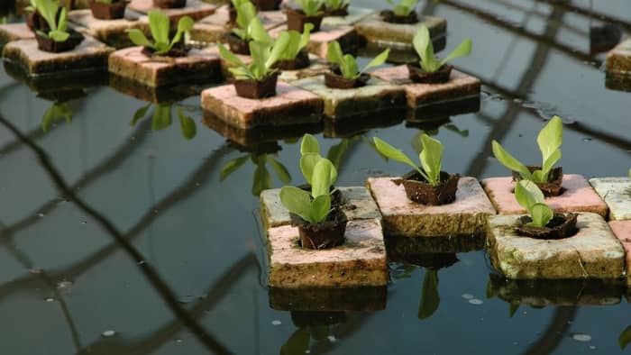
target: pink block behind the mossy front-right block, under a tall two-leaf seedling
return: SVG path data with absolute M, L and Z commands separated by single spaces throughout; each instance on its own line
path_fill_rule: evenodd
M 563 174 L 561 185 L 565 191 L 560 196 L 546 197 L 545 204 L 555 212 L 591 212 L 607 216 L 607 205 L 594 191 L 585 177 Z M 489 177 L 482 180 L 482 187 L 489 195 L 498 214 L 526 214 L 515 199 L 515 182 L 512 177 Z

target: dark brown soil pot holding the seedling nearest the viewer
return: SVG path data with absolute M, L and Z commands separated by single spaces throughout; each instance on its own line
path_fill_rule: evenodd
M 291 225 L 298 227 L 300 245 L 306 249 L 330 249 L 344 243 L 346 232 L 346 214 L 335 208 L 325 222 L 311 224 L 297 214 L 291 216 Z

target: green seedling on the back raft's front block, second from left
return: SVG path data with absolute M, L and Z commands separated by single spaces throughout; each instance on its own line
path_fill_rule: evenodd
M 178 21 L 178 31 L 172 39 L 169 40 L 169 16 L 160 11 L 149 12 L 149 28 L 151 29 L 151 37 L 153 42 L 149 41 L 139 29 L 127 30 L 130 40 L 137 46 L 148 47 L 154 50 L 155 54 L 164 54 L 169 52 L 176 43 L 182 40 L 184 33 L 193 29 L 195 22 L 192 18 L 184 16 Z

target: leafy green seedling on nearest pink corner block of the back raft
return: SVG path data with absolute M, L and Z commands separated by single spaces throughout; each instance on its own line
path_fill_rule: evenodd
M 244 64 L 234 53 L 218 43 L 219 53 L 224 59 L 233 63 L 237 68 L 230 68 L 237 80 L 256 80 L 262 81 L 266 77 L 276 72 L 272 66 L 280 59 L 281 54 L 287 49 L 289 43 L 289 33 L 283 32 L 279 34 L 279 38 L 270 42 L 251 41 L 250 53 L 251 64 Z

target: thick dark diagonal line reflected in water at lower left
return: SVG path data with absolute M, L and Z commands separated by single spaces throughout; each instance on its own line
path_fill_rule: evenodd
M 10 123 L 4 116 L 0 115 L 0 123 L 13 132 L 24 144 L 26 144 L 37 156 L 40 161 L 41 167 L 46 170 L 50 179 L 59 189 L 61 193 L 68 196 L 75 205 L 78 206 L 85 214 L 92 217 L 96 223 L 98 223 L 105 231 L 107 231 L 114 240 L 123 248 L 123 250 L 133 259 L 138 269 L 149 280 L 151 286 L 158 291 L 164 303 L 169 307 L 171 312 L 175 314 L 178 319 L 184 323 L 187 328 L 193 332 L 198 341 L 201 341 L 209 350 L 214 350 L 220 353 L 229 353 L 223 344 L 215 340 L 206 330 L 193 319 L 190 314 L 178 303 L 178 299 L 173 294 L 169 285 L 160 277 L 150 263 L 146 262 L 142 257 L 142 254 L 136 250 L 133 245 L 125 240 L 123 233 L 118 231 L 112 222 L 105 218 L 104 215 L 99 214 L 92 206 L 87 205 L 81 198 L 75 195 L 74 191 L 66 184 L 63 177 L 59 175 L 59 171 L 52 165 L 50 159 L 44 150 L 36 145 L 33 141 L 30 141 L 27 137 L 20 132 L 13 123 Z

